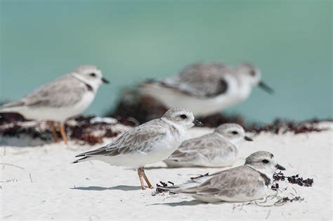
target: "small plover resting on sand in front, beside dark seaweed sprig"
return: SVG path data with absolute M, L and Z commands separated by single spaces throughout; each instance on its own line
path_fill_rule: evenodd
M 178 187 L 162 188 L 190 194 L 198 201 L 207 203 L 253 201 L 267 196 L 276 170 L 285 168 L 276 163 L 272 153 L 258 151 L 237 168 L 199 177 Z

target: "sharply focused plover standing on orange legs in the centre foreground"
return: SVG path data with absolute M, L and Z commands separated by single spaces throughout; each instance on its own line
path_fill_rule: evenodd
M 102 160 L 111 165 L 138 169 L 141 188 L 145 189 L 143 179 L 152 189 L 144 166 L 168 158 L 181 145 L 185 134 L 191 127 L 202 125 L 195 120 L 190 110 L 171 108 L 162 118 L 150 120 L 122 134 L 115 141 L 99 149 L 81 153 L 82 157 L 73 163 L 84 160 Z

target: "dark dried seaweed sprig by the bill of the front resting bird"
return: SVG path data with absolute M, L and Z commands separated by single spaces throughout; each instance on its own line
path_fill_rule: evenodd
M 290 177 L 285 176 L 281 171 L 275 172 L 273 175 L 273 185 L 271 189 L 277 191 L 279 189 L 279 181 L 287 181 L 291 184 L 298 184 L 301 187 L 312 187 L 313 186 L 313 179 L 306 178 L 303 179 L 303 177 L 299 177 L 299 175 L 292 175 Z

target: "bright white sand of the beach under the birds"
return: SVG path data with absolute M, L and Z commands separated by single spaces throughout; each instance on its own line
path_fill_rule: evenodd
M 332 123 L 327 123 L 333 127 Z M 326 126 L 327 126 L 326 125 Z M 192 130 L 189 137 L 209 132 Z M 244 142 L 240 160 L 259 150 L 274 153 L 287 170 L 314 179 L 313 187 L 280 182 L 278 196 L 301 196 L 301 202 L 272 206 L 266 203 L 198 203 L 190 196 L 168 193 L 152 196 L 141 191 L 135 171 L 93 161 L 70 164 L 74 156 L 97 146 L 1 147 L 0 219 L 332 219 L 332 129 L 308 134 L 268 134 Z M 100 145 L 98 145 L 100 146 Z M 13 166 L 15 165 L 15 166 Z M 148 166 L 146 174 L 159 180 L 185 182 L 189 177 L 221 169 L 166 169 L 164 163 Z M 150 168 L 149 168 L 150 167 Z M 157 167 L 157 168 L 156 168 Z M 276 191 L 271 192 L 272 196 Z M 271 207 L 263 207 L 268 205 Z

